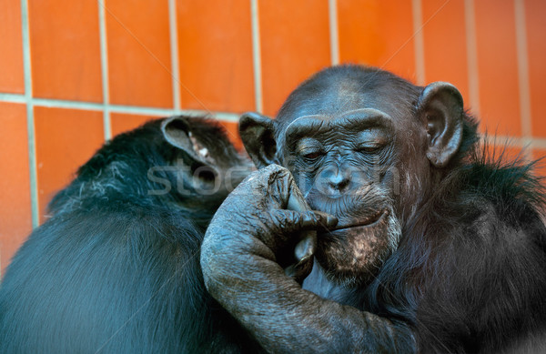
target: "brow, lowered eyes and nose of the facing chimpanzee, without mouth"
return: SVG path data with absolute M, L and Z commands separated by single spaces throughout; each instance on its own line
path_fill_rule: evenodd
M 286 129 L 285 139 L 282 159 L 306 196 L 336 199 L 362 193 L 373 179 L 382 182 L 380 176 L 394 160 L 392 118 L 372 108 L 300 116 Z

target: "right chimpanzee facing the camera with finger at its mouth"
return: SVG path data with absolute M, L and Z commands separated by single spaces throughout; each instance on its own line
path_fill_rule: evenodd
M 480 143 L 457 88 L 336 66 L 239 129 L 260 169 L 217 210 L 201 267 L 263 349 L 544 344 L 544 189 Z

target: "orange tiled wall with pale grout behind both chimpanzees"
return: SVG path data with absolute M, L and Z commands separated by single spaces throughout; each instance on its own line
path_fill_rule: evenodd
M 1 0 L 0 269 L 105 139 L 189 111 L 237 142 L 239 113 L 331 64 L 450 81 L 541 157 L 545 19 L 544 0 Z

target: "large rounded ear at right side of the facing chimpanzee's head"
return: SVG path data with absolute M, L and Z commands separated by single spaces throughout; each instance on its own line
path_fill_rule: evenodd
M 427 157 L 435 167 L 445 167 L 459 150 L 462 140 L 462 96 L 455 86 L 435 82 L 425 87 L 418 107 L 427 123 Z

